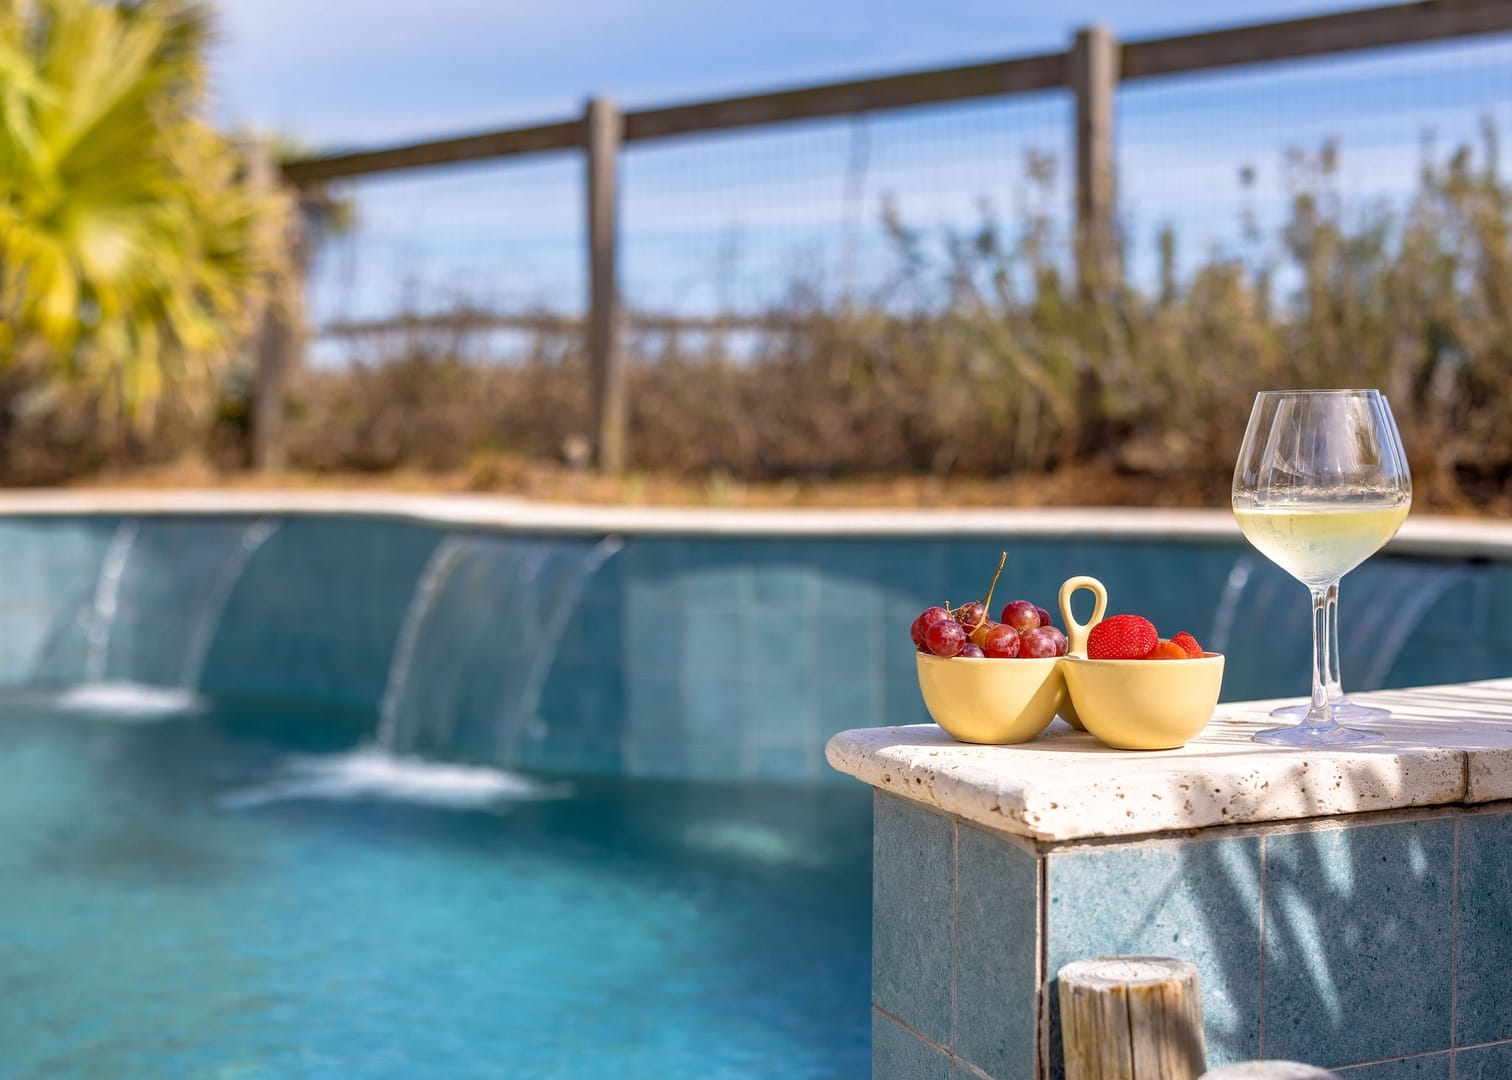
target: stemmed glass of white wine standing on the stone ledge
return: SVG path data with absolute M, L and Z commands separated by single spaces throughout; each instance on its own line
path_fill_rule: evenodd
M 1264 390 L 1234 467 L 1234 517 L 1261 555 L 1312 593 L 1312 699 L 1300 723 L 1255 738 L 1282 746 L 1373 741 L 1328 694 L 1329 591 L 1387 543 L 1412 505 L 1402 437 L 1376 390 Z M 1337 672 L 1337 663 L 1334 664 Z

